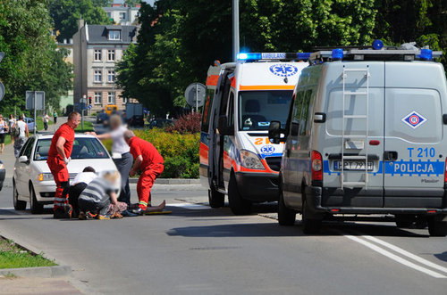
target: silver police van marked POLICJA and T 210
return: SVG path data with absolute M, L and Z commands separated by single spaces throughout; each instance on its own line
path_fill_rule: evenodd
M 271 142 L 285 142 L 280 225 L 300 212 L 315 234 L 325 217 L 390 214 L 447 234 L 447 86 L 432 61 L 440 56 L 380 40 L 310 54 L 286 127 L 269 127 Z

